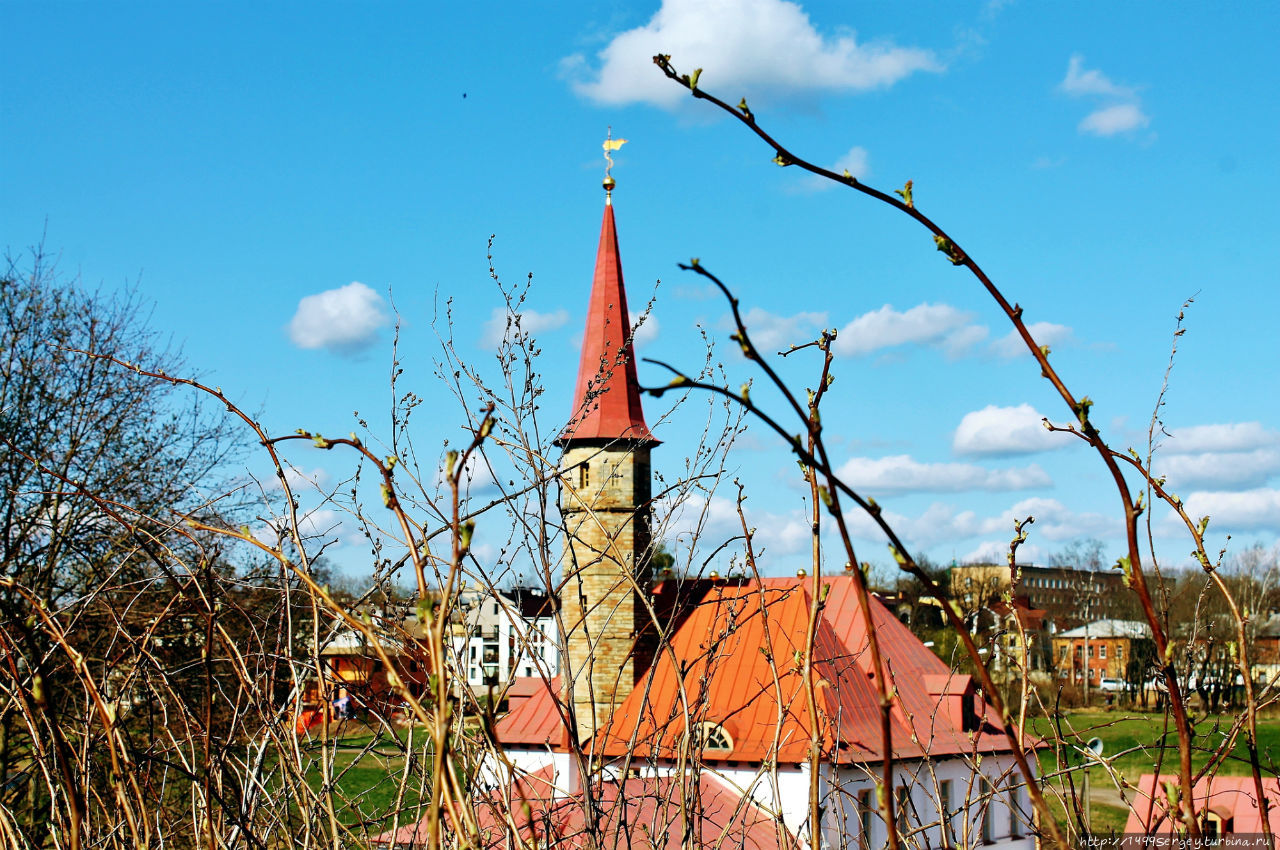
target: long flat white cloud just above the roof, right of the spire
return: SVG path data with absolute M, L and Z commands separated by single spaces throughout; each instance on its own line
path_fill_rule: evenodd
M 1029 490 L 1053 483 L 1034 463 L 1021 469 L 989 470 L 974 463 L 922 463 L 908 454 L 852 457 L 841 465 L 840 477 L 855 490 L 870 494 Z

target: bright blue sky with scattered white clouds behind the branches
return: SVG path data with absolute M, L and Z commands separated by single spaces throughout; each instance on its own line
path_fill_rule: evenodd
M 918 206 L 1046 323 L 1064 378 L 1120 448 L 1146 444 L 1174 317 L 1194 296 L 1157 470 L 1213 517 L 1215 548 L 1228 533 L 1275 545 L 1271 4 L 10 1 L 0 22 L 5 246 L 44 234 L 63 273 L 137 284 L 192 367 L 275 433 L 346 433 L 352 411 L 385 429 L 394 302 L 401 389 L 425 399 L 420 460 L 461 439 L 462 407 L 434 375 L 433 319 L 452 298 L 460 352 L 497 375 L 490 234 L 508 285 L 532 275 L 524 326 L 554 433 L 570 415 L 612 125 L 630 140 L 614 169 L 630 297 L 655 298 L 643 355 L 696 369 L 701 328 L 730 383 L 750 376 L 724 305 L 676 269 L 699 256 L 762 342 L 840 329 L 828 438 L 918 550 L 991 556 L 1014 516 L 1034 515 L 1027 559 L 1082 536 L 1119 554 L 1105 470 L 1039 428 L 1069 415 L 975 282 L 918 225 L 772 165 L 744 128 L 662 79 L 649 61 L 660 51 L 701 67 L 726 100 L 746 96 L 797 154 L 884 189 L 913 179 Z M 817 365 L 785 369 L 803 387 Z M 650 422 L 662 410 L 648 402 Z M 668 476 L 705 411 L 695 402 L 659 426 Z M 328 488 L 353 469 L 292 460 Z M 753 429 L 728 470 L 768 570 L 803 566 L 795 465 Z M 709 539 L 731 534 L 731 495 L 694 494 L 667 531 L 677 548 L 698 508 Z M 360 571 L 349 520 L 308 498 L 335 559 Z M 481 524 L 483 557 L 499 557 L 503 522 Z M 859 556 L 887 562 L 864 526 Z M 1164 511 L 1153 529 L 1161 556 L 1185 561 Z

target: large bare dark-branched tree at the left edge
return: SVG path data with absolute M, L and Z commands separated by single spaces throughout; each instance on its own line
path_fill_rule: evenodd
M 188 714 L 212 704 L 214 680 L 200 664 L 195 612 L 205 605 L 182 591 L 234 571 L 228 541 L 180 522 L 215 513 L 218 470 L 234 443 L 225 420 L 191 396 L 92 356 L 180 369 L 146 315 L 132 293 L 106 297 L 60 279 L 38 250 L 8 259 L 0 278 L 0 577 L 8 580 L 0 585 L 0 680 L 9 678 L 0 687 L 0 777 L 29 763 L 46 737 L 55 751 L 99 751 L 88 739 L 64 740 L 76 727 L 60 718 L 92 709 L 76 657 L 58 648 L 58 623 L 82 635 L 101 698 L 119 704 L 125 687 L 146 699 L 159 693 L 148 680 L 118 675 L 125 658 L 138 657 L 127 636 L 142 635 L 151 668 L 184 671 L 161 687 L 175 708 L 154 703 L 156 717 L 215 722 L 209 712 Z M 216 511 L 229 508 L 218 502 Z M 23 689 L 40 699 L 24 702 Z M 108 772 L 101 768 L 99 776 Z M 0 806 L 18 813 L 35 846 L 50 828 L 47 787 L 29 776 L 0 787 Z

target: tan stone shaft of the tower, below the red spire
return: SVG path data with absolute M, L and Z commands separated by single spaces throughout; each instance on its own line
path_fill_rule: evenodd
M 585 470 L 584 470 L 585 467 Z M 571 445 L 562 461 L 567 681 L 579 740 L 604 726 L 648 670 L 649 449 Z

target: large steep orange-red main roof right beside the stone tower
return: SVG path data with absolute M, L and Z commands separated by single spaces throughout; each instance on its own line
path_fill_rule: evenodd
M 685 582 L 682 591 L 694 599 L 680 613 L 669 649 L 658 654 L 644 684 L 617 708 L 595 748 L 607 755 L 675 758 L 687 716 L 694 723 L 723 727 L 732 739 L 730 751 L 704 751 L 704 759 L 759 763 L 776 751 L 780 762 L 804 762 L 812 722 L 797 659 L 808 630 L 810 581 Z M 824 758 L 840 763 L 882 754 L 879 696 L 852 582 L 847 576 L 823 580 L 828 590 L 814 652 Z M 655 593 L 660 597 L 664 590 Z M 895 702 L 891 716 L 893 754 L 1007 750 L 1002 731 L 989 721 L 970 731 L 961 712 L 940 708 L 941 699 L 973 699 L 972 693 L 960 693 L 968 677 L 955 676 L 879 602 L 872 599 L 870 611 L 901 703 Z M 960 687 L 951 687 L 951 680 Z M 945 696 L 948 693 L 952 696 Z M 966 713 L 995 718 L 989 707 L 973 709 Z M 498 739 L 508 745 L 557 746 L 566 740 L 563 727 L 556 698 L 544 690 L 499 722 Z

